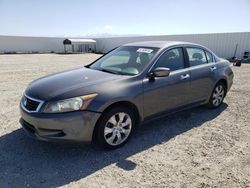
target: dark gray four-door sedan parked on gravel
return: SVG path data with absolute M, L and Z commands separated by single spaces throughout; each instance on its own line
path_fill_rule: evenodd
M 219 107 L 233 76 L 227 60 L 201 45 L 131 43 L 30 83 L 20 123 L 40 140 L 97 140 L 114 149 L 146 120 L 198 105 Z

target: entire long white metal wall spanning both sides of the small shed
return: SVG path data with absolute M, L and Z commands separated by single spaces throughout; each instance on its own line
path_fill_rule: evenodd
M 152 40 L 186 41 L 204 45 L 214 51 L 220 57 L 243 58 L 250 51 L 250 32 L 235 33 L 210 33 L 210 34 L 188 34 L 188 35 L 160 35 L 160 36 L 137 36 L 137 37 L 110 37 L 92 38 L 95 41 L 94 50 L 105 53 L 119 45 Z M 0 36 L 0 53 L 44 53 L 64 52 L 65 38 L 56 37 L 19 37 Z M 72 41 L 88 41 L 88 39 Z M 77 43 L 77 42 L 75 42 Z M 77 47 L 75 52 L 88 52 L 89 49 Z

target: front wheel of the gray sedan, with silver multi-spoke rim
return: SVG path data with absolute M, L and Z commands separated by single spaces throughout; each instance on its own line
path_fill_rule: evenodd
M 128 142 L 135 128 L 135 114 L 127 107 L 114 107 L 97 122 L 96 139 L 105 149 L 116 149 Z

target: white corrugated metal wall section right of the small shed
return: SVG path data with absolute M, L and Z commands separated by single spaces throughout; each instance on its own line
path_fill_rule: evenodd
M 250 32 L 117 37 L 99 38 L 95 40 L 97 41 L 97 50 L 101 52 L 107 52 L 116 46 L 125 43 L 152 40 L 170 40 L 198 43 L 208 47 L 220 57 L 233 57 L 236 51 L 235 56 L 242 58 L 245 51 L 250 51 Z

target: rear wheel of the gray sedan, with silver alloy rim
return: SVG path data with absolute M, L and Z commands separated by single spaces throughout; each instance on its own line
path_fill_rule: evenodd
M 209 98 L 208 107 L 218 108 L 223 103 L 226 96 L 226 86 L 223 82 L 218 82 Z

